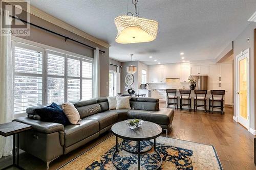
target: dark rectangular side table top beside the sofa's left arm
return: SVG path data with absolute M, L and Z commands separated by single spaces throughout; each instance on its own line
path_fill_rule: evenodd
M 23 124 L 20 122 L 9 122 L 5 124 L 0 124 L 0 135 L 10 136 L 19 132 L 32 129 L 31 125 Z

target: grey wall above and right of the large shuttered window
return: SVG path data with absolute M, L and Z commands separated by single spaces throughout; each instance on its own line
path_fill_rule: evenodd
M 22 19 L 26 20 L 26 18 L 22 18 Z M 59 34 L 65 35 L 69 38 L 75 39 L 77 41 L 88 44 L 90 46 L 99 47 L 100 50 L 105 51 L 104 54 L 99 53 L 100 54 L 100 95 L 101 96 L 109 95 L 109 89 L 106 88 L 106 82 L 109 82 L 109 75 L 108 75 L 109 71 L 106 71 L 106 70 L 109 70 L 109 48 L 98 45 L 92 41 L 89 41 L 72 32 L 69 32 L 56 25 L 53 25 L 52 23 L 46 20 L 43 20 L 41 18 L 38 18 L 34 15 L 30 16 L 30 21 L 35 25 L 38 25 L 46 29 L 49 29 L 51 31 L 57 32 Z M 30 27 L 30 30 L 31 30 L 30 36 L 19 36 L 19 37 L 93 58 L 93 50 L 91 48 L 88 48 L 84 45 L 78 44 L 70 40 L 67 40 L 67 42 L 65 42 L 64 38 L 51 34 L 44 30 L 38 29 L 33 26 Z

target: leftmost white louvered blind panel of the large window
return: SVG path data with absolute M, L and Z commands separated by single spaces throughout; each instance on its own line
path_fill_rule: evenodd
M 14 114 L 42 105 L 42 49 L 14 46 Z

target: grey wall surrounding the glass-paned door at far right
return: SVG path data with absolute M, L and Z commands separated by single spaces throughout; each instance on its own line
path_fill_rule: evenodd
M 250 22 L 250 24 L 246 27 L 246 29 L 234 40 L 234 54 L 233 54 L 233 80 L 236 82 L 236 56 L 241 53 L 241 51 L 246 50 L 247 48 L 250 48 L 250 128 L 255 130 L 256 129 L 256 116 L 255 116 L 255 110 L 256 110 L 256 104 L 254 100 L 254 96 L 256 96 L 255 92 L 255 86 L 256 83 L 256 74 L 255 74 L 255 68 L 256 68 L 256 60 L 254 57 L 254 32 L 256 28 L 256 22 Z M 247 42 L 247 38 L 250 38 L 250 42 Z M 236 83 L 233 84 L 233 96 L 234 96 L 234 116 L 237 115 L 236 113 Z

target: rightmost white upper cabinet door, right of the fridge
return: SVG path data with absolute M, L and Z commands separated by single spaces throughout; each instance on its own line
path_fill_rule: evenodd
M 232 82 L 233 65 L 231 63 L 220 65 L 220 82 Z

